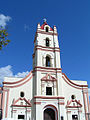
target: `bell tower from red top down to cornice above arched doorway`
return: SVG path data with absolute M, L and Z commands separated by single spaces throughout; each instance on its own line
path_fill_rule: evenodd
M 51 91 L 54 96 L 62 94 L 62 90 L 60 90 L 62 83 L 60 83 L 61 63 L 57 28 L 56 26 L 51 28 L 46 21 L 41 26 L 40 23 L 37 25 L 34 40 L 33 73 L 33 96 L 46 96 L 48 91 Z M 46 83 L 43 78 L 49 81 Z M 55 82 L 51 78 L 57 81 Z

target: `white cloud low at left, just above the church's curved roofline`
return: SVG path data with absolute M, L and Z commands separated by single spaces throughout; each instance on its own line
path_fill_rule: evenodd
M 18 72 L 17 74 L 14 75 L 11 65 L 1 67 L 0 68 L 0 82 L 4 80 L 4 77 L 25 77 L 28 73 L 29 71 Z

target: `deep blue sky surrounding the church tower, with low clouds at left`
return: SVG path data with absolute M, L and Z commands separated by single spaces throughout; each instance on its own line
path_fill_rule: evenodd
M 2 0 L 11 43 L 0 51 L 0 73 L 24 76 L 32 70 L 33 41 L 43 19 L 57 26 L 62 71 L 90 87 L 90 0 Z M 2 78 L 3 78 L 2 76 Z M 2 79 L 1 78 L 1 79 Z

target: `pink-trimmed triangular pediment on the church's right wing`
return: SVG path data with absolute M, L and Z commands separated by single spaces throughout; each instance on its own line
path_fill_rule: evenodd
M 81 108 L 82 104 L 80 103 L 80 100 L 70 100 L 67 101 L 67 108 Z

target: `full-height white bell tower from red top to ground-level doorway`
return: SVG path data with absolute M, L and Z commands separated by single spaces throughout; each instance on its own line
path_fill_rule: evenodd
M 42 25 L 38 23 L 34 40 L 32 119 L 44 120 L 49 109 L 58 111 L 55 120 L 64 114 L 59 107 L 60 101 L 64 103 L 62 85 L 57 28 L 44 21 Z

